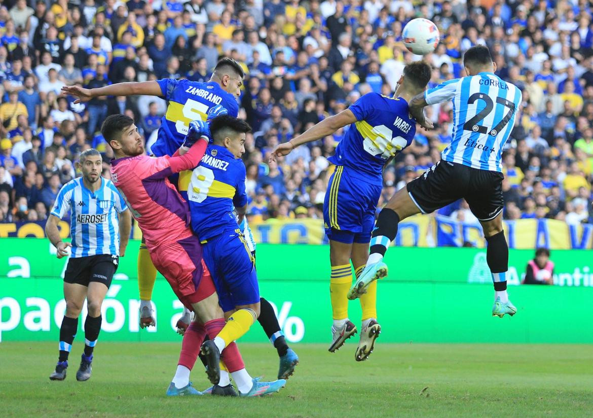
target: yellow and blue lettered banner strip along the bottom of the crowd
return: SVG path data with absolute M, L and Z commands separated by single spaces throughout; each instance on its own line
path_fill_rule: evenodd
M 250 224 L 256 243 L 310 244 L 327 243 L 321 219 L 268 219 Z M 66 238 L 70 228 L 59 223 L 60 236 Z M 554 219 L 519 219 L 504 222 L 509 248 L 591 249 L 593 225 L 568 225 Z M 44 238 L 44 222 L 0 223 L 0 238 Z M 142 238 L 134 227 L 133 239 Z M 445 216 L 416 215 L 400 222 L 394 245 L 399 246 L 473 246 L 484 248 L 486 242 L 480 224 L 462 223 Z

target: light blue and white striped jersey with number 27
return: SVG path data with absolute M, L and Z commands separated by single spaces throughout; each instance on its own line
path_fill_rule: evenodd
M 443 160 L 502 172 L 502 148 L 515 125 L 521 90 L 492 72 L 480 72 L 429 88 L 424 98 L 429 105 L 453 102 L 453 139 Z

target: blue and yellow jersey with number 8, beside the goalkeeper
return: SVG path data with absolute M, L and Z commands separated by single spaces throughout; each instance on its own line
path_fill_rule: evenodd
M 243 160 L 225 147 L 209 145 L 199 166 L 187 183 L 187 202 L 192 213 L 192 229 L 200 240 L 238 229 L 234 207 L 247 204 L 246 170 Z

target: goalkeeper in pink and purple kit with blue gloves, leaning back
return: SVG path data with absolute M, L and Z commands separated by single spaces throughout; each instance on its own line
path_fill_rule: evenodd
M 172 157 L 146 156 L 138 128 L 125 115 L 109 116 L 101 133 L 115 154 L 111 161 L 111 179 L 142 230 L 152 262 L 179 300 L 196 314 L 183 337 L 177 372 L 167 395 L 202 395 L 192 387 L 189 375 L 205 335 L 211 338 L 219 335 L 224 341 L 234 341 L 237 336 L 232 325 L 225 325 L 212 278 L 202 262 L 202 246 L 189 226 L 189 206 L 168 177 L 197 166 L 208 145 L 208 125 L 202 121 L 192 122 L 184 146 L 180 148 L 186 153 L 181 155 L 177 151 Z M 225 347 L 222 361 L 241 396 L 277 392 L 286 383 L 283 379 L 274 382 L 252 379 L 234 342 Z M 218 364 L 206 369 L 214 384 L 212 394 L 237 395 L 228 372 L 219 370 Z

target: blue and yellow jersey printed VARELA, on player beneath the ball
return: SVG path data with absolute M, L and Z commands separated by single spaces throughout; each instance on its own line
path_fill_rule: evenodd
M 367 93 L 349 107 L 356 116 L 329 161 L 381 185 L 384 164 L 412 143 L 416 121 L 406 100 Z

